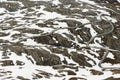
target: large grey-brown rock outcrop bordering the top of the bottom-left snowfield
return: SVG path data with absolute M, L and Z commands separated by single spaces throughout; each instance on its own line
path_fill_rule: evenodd
M 58 65 L 61 64 L 61 60 L 58 56 L 51 54 L 44 49 L 28 49 L 27 53 L 32 55 L 37 65 Z

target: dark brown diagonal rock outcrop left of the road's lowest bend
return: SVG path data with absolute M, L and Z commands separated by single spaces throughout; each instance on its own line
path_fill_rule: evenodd
M 92 65 L 87 62 L 85 55 L 78 54 L 77 52 L 71 52 L 70 54 L 72 55 L 71 58 L 73 61 L 77 62 L 80 66 L 92 67 Z

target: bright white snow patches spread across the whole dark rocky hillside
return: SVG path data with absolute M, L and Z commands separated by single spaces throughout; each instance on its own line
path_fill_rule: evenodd
M 0 0 L 0 2 L 2 2 L 2 1 L 7 1 L 7 0 Z M 56 6 L 58 6 L 59 4 L 62 4 L 59 0 L 30 0 L 30 1 L 51 2 L 53 5 L 56 5 Z M 98 4 L 96 4 L 94 1 L 90 1 L 90 0 L 76 0 L 76 1 L 87 3 L 87 4 L 90 4 L 90 5 L 94 5 L 94 6 L 97 6 L 99 8 L 104 8 L 103 6 L 99 6 Z M 117 0 L 117 1 L 120 2 L 120 0 Z M 22 3 L 19 3 L 19 4 L 21 4 L 21 6 L 23 6 Z M 65 5 L 65 6 L 66 6 L 66 8 L 69 8 L 71 5 Z M 76 20 L 76 21 L 81 22 L 83 24 L 90 22 L 87 18 L 73 18 L 73 17 L 68 17 L 66 15 L 58 14 L 57 12 L 46 11 L 46 10 L 44 10 L 45 6 L 43 6 L 43 5 L 40 5 L 39 9 L 36 9 L 35 7 L 32 7 L 32 9 L 34 9 L 35 11 L 30 13 L 30 12 L 27 12 L 26 9 L 18 10 L 16 12 L 8 12 L 6 9 L 0 8 L 0 14 L 1 14 L 0 15 L 0 22 L 4 21 L 4 22 L 2 22 L 4 25 L 0 24 L 0 27 L 4 26 L 4 28 L 5 28 L 5 27 L 10 26 L 9 24 L 6 23 L 6 21 L 11 21 L 12 19 L 6 20 L 7 18 L 12 17 L 12 18 L 14 18 L 14 20 L 16 20 L 18 22 L 17 26 L 12 26 L 14 29 L 9 29 L 9 30 L 2 30 L 1 29 L 0 32 L 8 33 L 8 35 L 7 36 L 1 36 L 0 39 L 1 40 L 8 40 L 10 42 L 18 41 L 19 39 L 13 39 L 12 36 L 14 34 L 23 34 L 23 33 L 19 32 L 19 31 L 16 31 L 15 29 L 21 29 L 21 28 L 23 28 L 23 29 L 24 28 L 38 29 L 38 30 L 42 30 L 43 33 L 50 33 L 51 31 L 54 30 L 54 28 L 69 27 L 67 25 L 67 23 L 57 21 L 57 20 L 62 20 L 62 19 Z M 82 12 L 88 12 L 88 11 L 89 11 L 89 9 L 83 9 L 82 10 Z M 108 11 L 102 10 L 102 9 L 97 9 L 96 11 L 100 13 L 100 14 L 97 14 L 97 16 L 96 16 L 98 20 L 101 19 L 101 17 L 100 17 L 101 14 L 104 14 L 105 18 L 103 18 L 103 19 L 106 20 L 106 18 L 107 18 L 108 20 L 111 20 L 113 23 L 117 22 L 117 20 L 115 18 L 110 17 L 110 13 Z M 33 14 L 34 12 L 35 12 L 35 14 L 41 13 L 40 17 L 38 17 L 36 15 L 25 16 L 26 13 Z M 23 20 L 23 18 L 30 18 L 30 20 L 28 20 L 28 21 L 26 19 Z M 32 21 L 34 21 L 35 19 L 37 19 L 36 23 L 44 23 L 44 21 L 47 21 L 47 20 L 50 20 L 50 19 L 56 19 L 56 20 L 54 21 L 55 25 L 53 25 L 54 28 L 51 28 L 51 27 L 48 28 L 47 27 L 48 25 L 44 26 L 44 27 L 39 27 L 39 26 L 36 25 L 36 23 L 32 23 Z M 90 33 L 91 33 L 92 37 L 97 35 L 97 32 L 92 28 L 91 24 L 85 25 L 85 27 L 90 29 Z M 101 29 L 98 26 L 96 26 L 96 27 Z M 81 47 L 85 46 L 85 44 L 79 43 L 76 36 L 74 36 L 72 33 L 70 33 L 70 31 L 68 29 L 64 29 L 64 30 L 60 29 L 60 30 L 56 31 L 55 33 L 59 33 L 65 38 L 67 38 L 67 36 L 65 36 L 63 33 L 71 34 L 75 38 L 75 40 L 73 42 L 77 43 Z M 23 37 L 31 37 L 31 36 L 40 35 L 40 34 L 28 34 L 28 33 L 26 33 L 26 34 L 23 34 L 23 35 L 24 35 Z M 77 37 L 82 39 L 81 36 L 77 36 Z M 116 36 L 113 36 L 113 38 L 118 39 Z M 67 38 L 67 39 L 69 39 L 69 38 Z M 96 42 L 96 40 L 98 40 L 100 43 L 102 42 L 101 38 L 97 37 L 97 38 L 94 39 L 94 44 L 90 44 L 90 46 L 102 47 L 99 43 Z M 22 43 L 26 46 L 30 46 L 30 45 L 39 46 L 40 48 L 49 51 L 51 54 L 54 54 L 48 48 L 46 48 L 43 44 L 38 44 L 37 42 L 35 42 L 32 39 L 27 39 L 26 41 L 23 41 Z M 0 43 L 0 45 L 2 45 L 2 43 Z M 1 47 L 0 47 L 0 49 L 1 49 L 0 50 L 0 61 L 13 60 L 15 65 L 14 66 L 0 66 L 0 71 L 2 69 L 3 69 L 3 71 L 11 71 L 12 75 L 10 75 L 10 76 L 13 76 L 14 80 L 17 80 L 17 76 L 23 76 L 25 78 L 29 78 L 29 79 L 32 80 L 33 75 L 39 73 L 39 71 L 37 71 L 37 70 L 42 70 L 42 71 L 46 71 L 48 73 L 53 74 L 53 76 L 51 76 L 50 78 L 45 78 L 44 77 L 44 78 L 39 79 L 39 80 L 63 80 L 64 78 L 67 80 L 71 77 L 81 77 L 81 78 L 86 78 L 87 80 L 104 80 L 105 78 L 108 78 L 108 77 L 111 77 L 111 76 L 113 76 L 115 78 L 119 78 L 119 76 L 120 76 L 120 74 L 114 74 L 113 75 L 113 73 L 111 71 L 102 71 L 101 68 L 98 66 L 98 63 L 99 63 L 100 60 L 98 58 L 95 58 L 91 54 L 89 54 L 87 52 L 87 50 L 85 50 L 85 49 L 77 51 L 74 48 L 67 48 L 69 54 L 72 51 L 78 52 L 80 54 L 84 54 L 84 55 L 90 57 L 91 59 L 93 59 L 96 62 L 96 65 L 94 65 L 94 63 L 92 61 L 88 61 L 88 63 L 94 65 L 92 68 L 89 68 L 89 67 L 81 68 L 81 67 L 79 67 L 79 71 L 76 72 L 77 75 L 71 76 L 71 75 L 67 75 L 65 73 L 67 76 L 59 78 L 59 77 L 54 77 L 54 75 L 59 74 L 59 73 L 58 73 L 57 70 L 54 70 L 51 66 L 41 66 L 41 65 L 38 66 L 38 65 L 33 64 L 30 60 L 28 60 L 27 57 L 31 58 L 33 60 L 33 62 L 35 63 L 35 61 L 34 61 L 34 59 L 32 58 L 31 55 L 27 55 L 25 53 L 22 53 L 22 56 L 18 56 L 18 55 L 16 55 L 16 53 L 8 50 L 8 53 L 10 53 L 10 55 L 9 55 L 10 58 L 9 59 L 2 59 L 3 58 L 3 56 L 2 56 L 3 51 L 2 51 Z M 96 52 L 97 50 L 98 49 L 92 48 L 92 50 L 90 50 L 90 53 L 99 57 L 99 54 Z M 61 60 L 64 60 L 64 58 L 65 58 L 68 61 L 68 63 L 73 63 L 73 64 L 76 64 L 78 66 L 78 63 L 73 61 L 71 58 L 65 57 L 62 54 L 56 54 L 56 55 L 59 56 Z M 109 57 L 111 59 L 114 59 L 114 56 L 113 56 L 112 53 L 110 53 L 107 57 Z M 25 65 L 22 65 L 22 66 L 16 65 L 17 60 L 20 60 L 20 61 L 24 62 Z M 1 65 L 1 62 L 0 62 L 0 65 Z M 112 65 L 110 63 L 104 63 L 102 65 L 103 66 L 108 66 L 108 67 L 109 66 L 112 66 L 112 67 L 120 66 L 120 64 Z M 104 74 L 103 75 L 92 75 L 90 73 L 90 69 L 95 69 L 95 70 L 102 71 L 102 72 L 104 72 Z M 7 79 L 5 79 L 6 77 L 9 77 L 9 75 L 6 74 L 5 76 L 0 77 L 0 80 L 7 80 Z

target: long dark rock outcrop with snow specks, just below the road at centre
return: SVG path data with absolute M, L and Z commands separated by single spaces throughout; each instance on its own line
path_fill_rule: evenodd
M 54 40 L 55 38 L 56 40 Z M 49 45 L 55 45 L 55 46 L 64 46 L 64 47 L 72 47 L 72 42 L 68 41 L 67 38 L 63 37 L 60 34 L 53 34 L 48 36 L 40 36 L 34 38 L 36 42 L 43 43 L 43 44 L 49 44 Z

